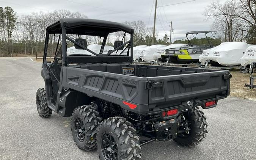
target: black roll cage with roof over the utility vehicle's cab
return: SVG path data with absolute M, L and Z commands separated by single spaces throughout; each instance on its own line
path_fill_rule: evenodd
M 107 54 L 102 54 L 104 46 L 106 44 L 107 36 L 110 33 L 123 31 L 124 36 L 126 33 L 130 34 L 130 40 L 125 43 L 114 47 L 114 50 L 110 50 Z M 46 43 L 44 48 L 44 59 L 43 63 L 46 62 L 47 56 L 47 46 L 49 44 L 49 35 L 50 34 L 60 34 L 62 39 L 61 49 L 62 49 L 62 66 L 67 66 L 69 63 L 121 63 L 121 62 L 129 62 L 132 63 L 133 58 L 133 29 L 124 24 L 119 24 L 116 22 L 109 22 L 105 20 L 95 20 L 95 19 L 60 19 L 49 25 L 46 28 Z M 85 36 L 98 36 L 103 37 L 104 40 L 101 45 L 100 53 L 95 53 L 92 50 L 88 49 L 84 45 L 70 38 L 68 35 L 85 35 Z M 123 39 L 124 39 L 123 36 Z M 123 41 L 122 39 L 122 41 Z M 95 56 L 67 56 L 67 43 L 66 40 L 74 43 L 79 46 L 81 49 L 84 49 Z M 58 44 L 60 42 L 60 36 L 58 40 Z M 57 48 L 58 48 L 57 44 Z M 127 55 L 116 55 L 112 53 L 118 52 L 118 50 L 125 48 L 127 50 Z M 123 53 L 124 50 L 121 52 Z M 57 50 L 55 52 L 56 56 Z M 120 54 L 121 54 L 120 53 Z

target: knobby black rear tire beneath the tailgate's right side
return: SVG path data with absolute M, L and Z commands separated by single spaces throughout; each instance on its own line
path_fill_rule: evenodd
M 206 138 L 208 123 L 203 111 L 195 107 L 183 114 L 184 117 L 190 122 L 190 131 L 186 137 L 177 135 L 173 139 L 176 143 L 184 147 L 193 147 L 201 143 Z

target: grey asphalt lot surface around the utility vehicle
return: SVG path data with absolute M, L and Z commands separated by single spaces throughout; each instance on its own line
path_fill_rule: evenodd
M 0 58 L 0 159 L 98 159 L 97 151 L 76 147 L 69 118 L 38 116 L 35 94 L 41 87 L 41 63 Z M 174 141 L 150 143 L 142 147 L 142 159 L 256 159 L 255 101 L 228 97 L 204 113 L 209 133 L 202 144 L 184 148 Z

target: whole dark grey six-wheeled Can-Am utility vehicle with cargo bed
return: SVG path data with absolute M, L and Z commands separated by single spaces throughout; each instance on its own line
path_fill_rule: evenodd
M 102 54 L 114 32 L 123 39 Z M 54 35 L 58 43 L 49 62 Z M 87 48 L 85 35 L 103 38 L 98 53 Z M 115 22 L 60 19 L 49 25 L 41 72 L 46 88 L 36 93 L 39 115 L 71 116 L 77 147 L 97 148 L 101 160 L 138 160 L 141 146 L 152 141 L 201 143 L 208 124 L 198 107 L 216 107 L 229 95 L 229 71 L 132 64 L 132 41 L 133 29 Z M 67 56 L 71 44 L 86 52 Z

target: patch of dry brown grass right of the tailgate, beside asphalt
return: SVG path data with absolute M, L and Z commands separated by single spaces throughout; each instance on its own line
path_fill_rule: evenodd
M 232 74 L 230 79 L 230 96 L 256 100 L 256 89 L 243 87 L 245 83 L 250 83 L 250 75 L 240 73 L 240 71 L 230 71 L 230 73 Z

